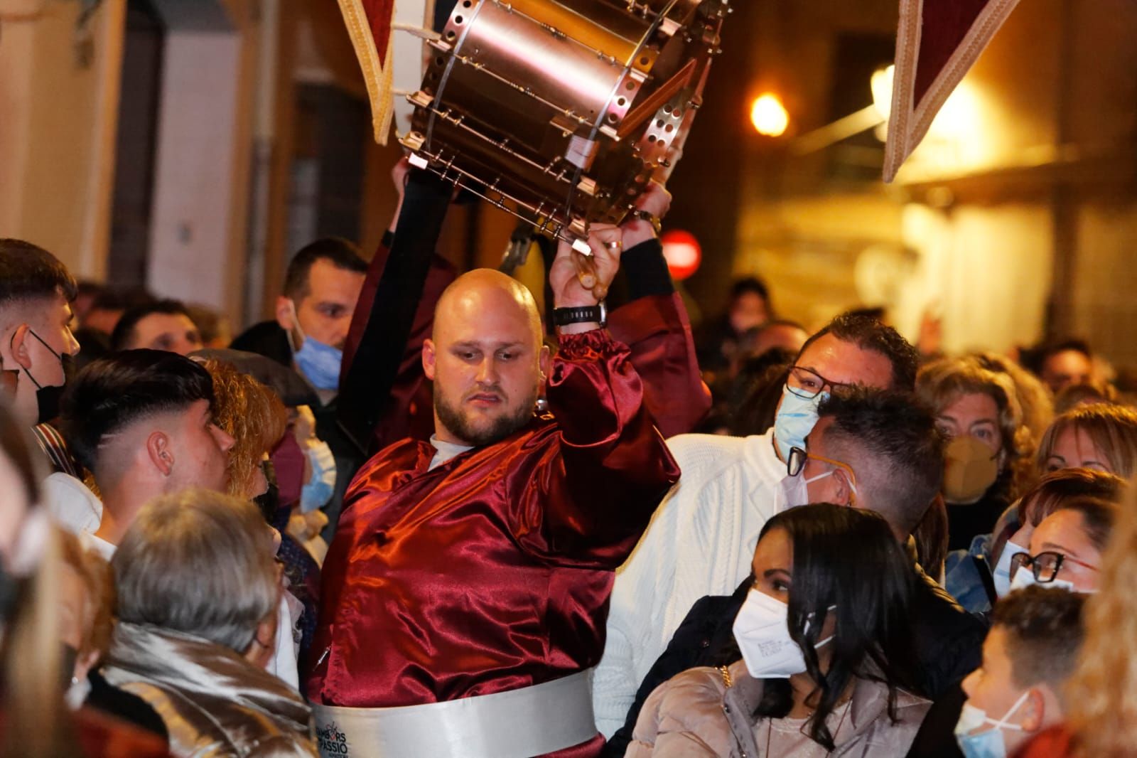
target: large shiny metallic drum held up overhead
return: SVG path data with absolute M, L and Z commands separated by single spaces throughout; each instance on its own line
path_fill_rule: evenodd
M 412 162 L 568 241 L 681 154 L 728 0 L 458 0 L 401 138 Z

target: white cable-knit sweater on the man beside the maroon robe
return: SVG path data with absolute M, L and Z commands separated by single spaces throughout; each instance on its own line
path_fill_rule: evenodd
M 616 570 L 607 642 L 592 682 L 597 728 L 620 728 L 636 690 L 699 598 L 729 595 L 750 570 L 758 532 L 786 506 L 773 430 L 667 440 L 682 476 Z

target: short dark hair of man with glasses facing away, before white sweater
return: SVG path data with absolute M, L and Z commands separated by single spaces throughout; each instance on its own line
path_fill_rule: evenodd
M 904 534 L 923 518 L 944 478 L 944 438 L 931 411 L 911 393 L 843 388 L 819 409 L 831 418 L 825 447 L 856 476 L 856 486 Z

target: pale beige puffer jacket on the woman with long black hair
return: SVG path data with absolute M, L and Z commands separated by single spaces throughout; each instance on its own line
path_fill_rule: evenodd
M 765 758 L 765 743 L 760 749 L 756 738 L 764 730 L 754 716 L 762 679 L 752 677 L 742 661 L 728 670 L 729 677 L 716 668 L 691 668 L 656 687 L 640 711 L 626 758 Z M 888 689 L 857 679 L 848 717 L 840 719 L 829 755 L 902 758 L 930 706 L 898 691 L 894 723 L 888 717 Z

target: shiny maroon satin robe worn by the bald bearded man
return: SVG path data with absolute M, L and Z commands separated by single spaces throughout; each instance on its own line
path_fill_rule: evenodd
M 553 365 L 556 420 L 434 470 L 434 448 L 413 439 L 359 470 L 324 563 L 313 701 L 453 700 L 599 661 L 613 571 L 679 468 L 624 345 L 563 336 Z

